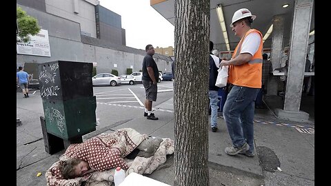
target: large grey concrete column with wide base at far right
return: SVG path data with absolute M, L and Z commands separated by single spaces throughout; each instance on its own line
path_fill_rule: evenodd
M 314 0 L 295 1 L 284 109 L 277 111 L 281 117 L 294 118 L 299 121 L 309 118 L 308 113 L 301 112 L 299 109 L 313 2 Z

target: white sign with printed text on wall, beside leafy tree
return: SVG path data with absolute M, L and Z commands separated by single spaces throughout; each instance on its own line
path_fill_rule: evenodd
M 48 39 L 48 30 L 41 29 L 38 34 L 30 36 L 28 43 L 17 42 L 17 54 L 26 54 L 33 56 L 50 56 L 50 41 Z

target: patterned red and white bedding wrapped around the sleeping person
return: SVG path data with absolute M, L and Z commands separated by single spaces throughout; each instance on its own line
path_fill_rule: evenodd
M 156 150 L 144 152 L 144 150 L 153 149 L 146 145 L 153 145 L 149 142 L 147 134 L 139 134 L 131 128 L 116 130 L 110 134 L 99 134 L 83 143 L 72 144 L 66 149 L 66 152 L 55 162 L 46 172 L 46 181 L 48 186 L 79 186 L 83 183 L 85 186 L 110 186 L 114 181 L 114 171 L 117 166 L 125 167 L 126 176 L 131 172 L 137 174 L 151 174 L 157 167 L 165 163 L 166 155 L 174 153 L 174 141 L 170 138 L 161 138 L 161 143 Z M 143 143 L 142 143 L 143 142 Z M 83 145 L 85 146 L 83 146 Z M 139 146 L 140 145 L 140 146 Z M 141 146 L 143 145 L 143 148 Z M 90 151 L 88 147 L 97 147 L 97 151 Z M 139 149 L 139 154 L 150 154 L 149 157 L 136 156 L 133 160 L 126 158 L 128 154 Z M 90 161 L 90 167 L 96 169 L 96 172 L 87 174 L 83 177 L 74 179 L 63 179 L 61 167 L 63 161 L 77 156 L 78 150 L 84 149 L 80 157 L 84 161 Z M 154 154 L 151 154 L 154 153 Z M 107 161 L 106 164 L 101 163 Z M 92 165 L 93 162 L 93 165 Z

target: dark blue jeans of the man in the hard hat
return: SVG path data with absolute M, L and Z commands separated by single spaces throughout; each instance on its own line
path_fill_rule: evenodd
M 223 116 L 234 147 L 245 142 L 254 151 L 254 101 L 259 88 L 234 85 L 228 94 L 223 108 Z

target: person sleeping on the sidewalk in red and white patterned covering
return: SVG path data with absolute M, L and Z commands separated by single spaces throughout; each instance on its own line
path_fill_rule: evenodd
M 148 158 L 156 152 L 161 141 L 162 138 L 149 136 L 126 157 L 129 159 L 136 156 Z M 128 169 L 119 148 L 107 147 L 99 138 L 90 138 L 83 143 L 71 144 L 65 154 L 68 159 L 63 161 L 60 170 L 62 175 L 59 174 L 65 179 L 85 176 L 94 171 L 103 172 L 114 167 Z

